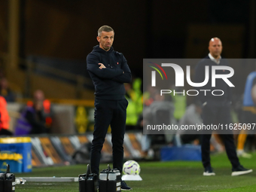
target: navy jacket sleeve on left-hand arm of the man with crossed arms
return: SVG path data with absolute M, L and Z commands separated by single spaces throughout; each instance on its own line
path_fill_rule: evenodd
M 104 64 L 104 63 L 103 63 Z M 112 79 L 117 75 L 121 75 L 123 73 L 122 69 L 99 69 L 99 59 L 96 55 L 90 53 L 87 56 L 87 70 L 92 72 L 94 75 L 99 78 Z

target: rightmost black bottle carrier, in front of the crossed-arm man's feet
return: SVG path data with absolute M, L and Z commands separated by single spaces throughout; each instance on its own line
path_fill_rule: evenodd
M 121 191 L 121 174 L 118 169 L 103 169 L 99 174 L 99 192 Z

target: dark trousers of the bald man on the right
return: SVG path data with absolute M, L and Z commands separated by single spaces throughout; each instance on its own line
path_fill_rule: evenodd
M 231 123 L 230 118 L 230 102 L 221 102 L 221 101 L 209 101 L 203 107 L 203 124 L 211 125 L 211 124 L 229 124 Z M 227 157 L 230 160 L 230 163 L 233 167 L 237 167 L 240 165 L 239 159 L 236 155 L 236 147 L 234 144 L 233 133 L 232 130 L 227 130 L 229 134 L 221 134 L 225 148 Z M 225 131 L 225 133 L 227 133 Z M 206 168 L 207 166 L 211 166 L 210 162 L 210 139 L 212 136 L 212 132 L 209 131 L 207 134 L 203 134 L 201 136 L 201 150 L 202 150 L 202 162 L 203 166 Z

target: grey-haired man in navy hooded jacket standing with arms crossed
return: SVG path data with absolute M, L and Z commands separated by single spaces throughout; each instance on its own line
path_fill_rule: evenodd
M 93 142 L 90 156 L 91 171 L 99 175 L 99 161 L 108 126 L 111 125 L 113 167 L 123 171 L 123 137 L 126 108 L 123 83 L 130 83 L 132 75 L 122 53 L 112 47 L 114 30 L 102 26 L 98 30 L 99 45 L 87 56 L 87 70 L 95 87 Z M 121 181 L 122 190 L 131 190 Z

